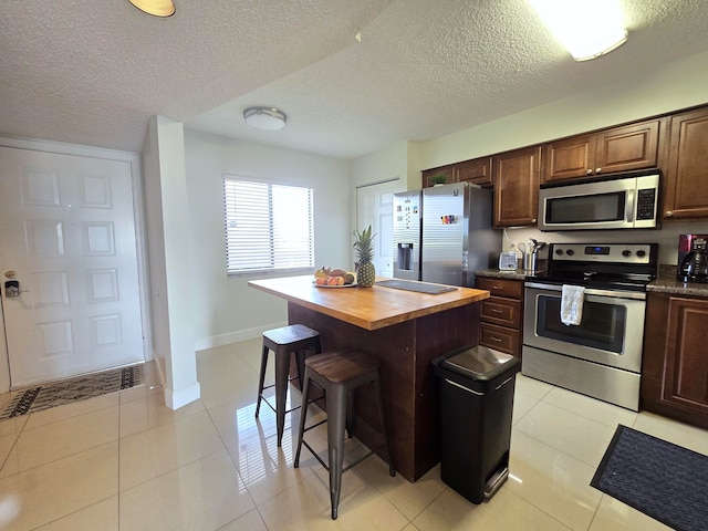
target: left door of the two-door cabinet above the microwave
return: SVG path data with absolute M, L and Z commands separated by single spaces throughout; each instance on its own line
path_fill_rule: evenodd
M 595 168 L 595 136 L 573 136 L 546 144 L 543 159 L 543 183 L 592 175 Z

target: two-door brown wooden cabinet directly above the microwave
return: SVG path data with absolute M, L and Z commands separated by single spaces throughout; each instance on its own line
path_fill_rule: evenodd
M 656 167 L 660 119 L 546 144 L 542 183 Z

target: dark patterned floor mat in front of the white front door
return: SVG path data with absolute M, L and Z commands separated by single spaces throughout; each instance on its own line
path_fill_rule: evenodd
M 144 383 L 143 365 L 134 365 L 32 387 L 14 393 L 10 404 L 0 414 L 0 419 L 94 398 Z

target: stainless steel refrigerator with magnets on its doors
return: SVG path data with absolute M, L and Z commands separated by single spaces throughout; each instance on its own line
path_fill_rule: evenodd
M 416 197 L 418 208 L 412 208 L 408 217 L 406 205 L 414 205 Z M 417 244 L 414 210 L 419 222 Z M 475 270 L 496 267 L 499 259 L 501 231 L 491 223 L 492 191 L 468 183 L 396 194 L 394 277 L 473 285 Z

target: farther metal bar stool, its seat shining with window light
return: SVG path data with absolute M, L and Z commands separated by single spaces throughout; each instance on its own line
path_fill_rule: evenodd
M 278 446 L 282 445 L 283 430 L 285 428 L 285 414 L 298 407 L 285 410 L 288 399 L 288 383 L 290 378 L 290 355 L 295 353 L 298 366 L 298 379 L 300 388 L 303 387 L 305 351 L 314 350 L 316 354 L 322 352 L 320 344 L 320 332 L 312 330 L 304 324 L 292 324 L 281 329 L 273 329 L 263 332 L 263 353 L 261 355 L 261 374 L 258 379 L 258 402 L 256 403 L 256 417 L 261 409 L 261 399 L 275 412 L 275 426 L 278 428 Z M 270 351 L 275 353 L 275 383 L 263 386 L 266 382 L 266 367 L 268 366 L 268 355 Z M 275 407 L 263 396 L 263 389 L 275 387 Z

